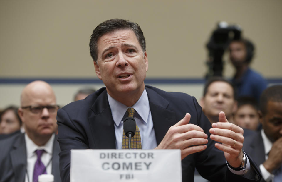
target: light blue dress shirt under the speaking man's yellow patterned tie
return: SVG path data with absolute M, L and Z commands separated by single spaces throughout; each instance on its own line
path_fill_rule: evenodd
M 109 94 L 108 100 L 115 122 L 116 149 L 122 149 L 123 119 L 127 117 L 128 107 L 113 99 Z M 156 148 L 157 140 L 146 89 L 132 108 L 136 111 L 134 119 L 140 131 L 142 149 Z

